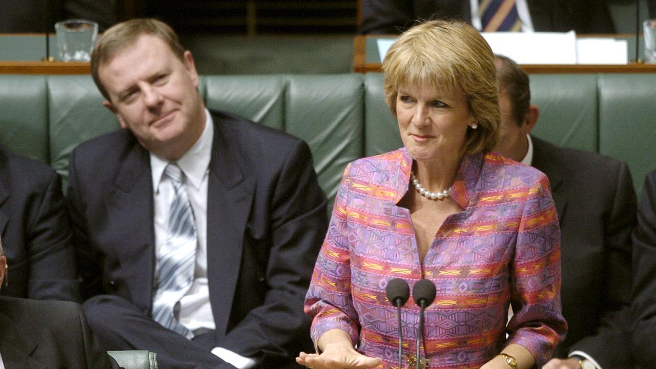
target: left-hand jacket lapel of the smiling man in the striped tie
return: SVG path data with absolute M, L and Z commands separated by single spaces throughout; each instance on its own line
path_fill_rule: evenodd
M 150 156 L 136 141 L 121 162 L 109 197 L 108 218 L 116 223 L 113 244 L 121 270 L 133 285 L 132 301 L 150 307 L 154 278 L 155 231 L 153 225 L 153 185 Z

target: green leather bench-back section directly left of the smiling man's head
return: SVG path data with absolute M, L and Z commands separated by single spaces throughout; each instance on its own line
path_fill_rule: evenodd
M 119 128 L 91 76 L 50 76 L 50 165 L 68 179 L 68 156 L 81 142 Z

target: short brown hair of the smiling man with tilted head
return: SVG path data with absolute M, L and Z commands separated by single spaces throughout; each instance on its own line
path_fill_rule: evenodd
M 173 28 L 161 20 L 137 18 L 115 24 L 102 34 L 91 53 L 91 76 L 98 90 L 107 100 L 110 100 L 110 96 L 98 76 L 100 66 L 123 49 L 134 45 L 141 35 L 153 35 L 161 39 L 169 45 L 173 54 L 180 61 L 184 60 L 184 48 L 180 45 L 178 35 Z

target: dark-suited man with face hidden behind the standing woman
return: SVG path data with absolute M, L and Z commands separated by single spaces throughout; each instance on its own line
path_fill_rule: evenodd
M 636 195 L 628 167 L 530 136 L 539 110 L 530 104 L 528 76 L 503 56 L 495 64 L 502 115 L 496 150 L 546 174 L 560 221 L 561 299 L 569 330 L 544 368 L 631 368 Z

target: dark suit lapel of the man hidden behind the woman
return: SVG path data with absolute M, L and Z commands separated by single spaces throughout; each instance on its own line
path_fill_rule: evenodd
M 562 225 L 565 216 L 565 205 L 567 204 L 567 199 L 561 186 L 564 176 L 562 169 L 556 165 L 557 160 L 552 155 L 552 150 L 549 147 L 551 144 L 533 136 L 531 136 L 531 140 L 533 141 L 533 163 L 531 165 L 546 174 L 546 177 L 549 179 L 551 196 L 556 205 L 556 212 L 558 212 L 558 223 Z

